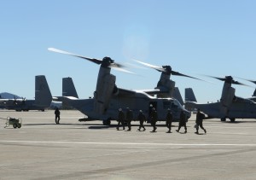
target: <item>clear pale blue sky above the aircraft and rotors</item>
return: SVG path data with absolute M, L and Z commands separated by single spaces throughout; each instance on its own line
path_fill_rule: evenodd
M 255 9 L 253 0 L 0 1 L 0 92 L 32 99 L 34 76 L 45 75 L 53 96 L 61 96 L 63 77 L 73 78 L 79 97 L 92 96 L 99 67 L 47 50 L 54 47 L 171 65 L 212 82 L 172 76 L 182 96 L 191 87 L 199 102 L 215 102 L 223 82 L 200 74 L 256 79 Z M 153 69 L 130 70 L 139 76 L 112 70 L 119 87 L 152 89 L 160 78 Z M 234 87 L 237 96 L 253 94 L 253 88 Z

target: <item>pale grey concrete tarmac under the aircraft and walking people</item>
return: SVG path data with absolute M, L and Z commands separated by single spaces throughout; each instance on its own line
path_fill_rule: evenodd
M 6 118 L 22 126 L 4 128 Z M 255 179 L 256 120 L 204 121 L 207 134 L 195 134 L 195 114 L 188 133 L 157 132 L 146 124 L 137 131 L 117 131 L 101 121 L 79 122 L 78 111 L 0 111 L 0 179 Z M 126 128 L 127 129 L 127 128 Z M 183 128 L 181 129 L 183 132 Z

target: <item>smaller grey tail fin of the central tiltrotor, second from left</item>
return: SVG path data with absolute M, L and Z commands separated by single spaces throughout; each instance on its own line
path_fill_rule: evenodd
M 79 98 L 72 78 L 62 78 L 62 96 L 73 96 Z

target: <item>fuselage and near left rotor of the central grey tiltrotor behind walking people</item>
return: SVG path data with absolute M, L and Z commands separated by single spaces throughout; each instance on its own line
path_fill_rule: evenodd
M 125 109 L 126 107 L 129 107 L 133 111 L 134 117 L 137 117 L 139 111 L 143 110 L 148 119 L 152 106 L 157 110 L 159 120 L 165 120 L 168 108 L 172 111 L 173 120 L 180 119 L 181 112 L 186 113 L 187 119 L 191 116 L 191 113 L 177 99 L 150 96 L 143 90 L 118 88 L 115 84 L 116 77 L 110 73 L 111 68 L 123 72 L 129 71 L 125 70 L 123 65 L 114 62 L 110 57 L 104 57 L 102 60 L 99 60 L 82 55 L 74 55 L 73 53 L 60 49 L 49 48 L 49 50 L 61 54 L 73 55 L 101 65 L 93 98 L 77 99 L 70 96 L 57 98 L 57 101 L 64 102 L 78 109 L 81 113 L 88 116 L 89 119 L 101 119 L 103 125 L 110 125 L 111 120 L 118 119 L 119 108 Z M 54 100 L 56 101 L 56 99 Z

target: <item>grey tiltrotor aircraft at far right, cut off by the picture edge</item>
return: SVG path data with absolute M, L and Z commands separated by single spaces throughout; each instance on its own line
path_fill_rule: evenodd
M 219 102 L 207 104 L 193 102 L 192 98 L 195 100 L 195 95 L 192 89 L 187 89 L 185 93 L 189 93 L 190 97 L 185 95 L 185 101 L 187 101 L 185 102 L 186 107 L 199 108 L 203 113 L 207 114 L 209 119 L 219 118 L 225 121 L 228 118 L 231 122 L 234 122 L 236 119 L 256 119 L 256 103 L 250 99 L 236 96 L 236 90 L 231 87 L 231 84 L 245 84 L 235 81 L 231 76 L 217 79 L 224 81 L 224 87 Z

